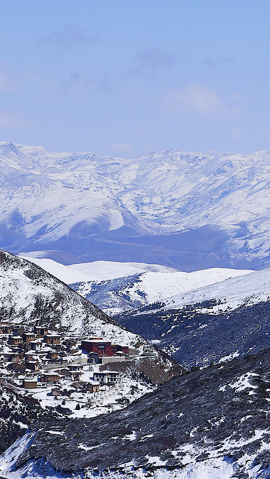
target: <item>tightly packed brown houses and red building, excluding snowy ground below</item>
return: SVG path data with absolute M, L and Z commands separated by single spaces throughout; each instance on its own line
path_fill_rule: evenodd
M 0 323 L 0 377 L 8 372 L 9 377 L 19 378 L 25 389 L 35 389 L 40 383 L 52 384 L 52 396 L 60 395 L 61 380 L 91 393 L 98 392 L 100 385 L 115 385 L 120 381 L 118 371 L 98 370 L 83 381 L 83 367 L 87 363 L 122 361 L 130 353 L 128 346 L 100 337 L 79 340 L 45 326 L 27 328 L 7 321 Z

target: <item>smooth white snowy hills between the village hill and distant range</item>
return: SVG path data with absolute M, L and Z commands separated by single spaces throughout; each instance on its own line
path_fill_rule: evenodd
M 156 264 L 112 261 L 64 266 L 51 259 L 27 259 L 70 284 L 75 291 L 111 315 L 250 272 L 212 268 L 186 273 Z

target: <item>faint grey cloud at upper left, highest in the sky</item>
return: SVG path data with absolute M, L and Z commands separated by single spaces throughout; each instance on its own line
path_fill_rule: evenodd
M 66 50 L 74 44 L 85 45 L 94 41 L 97 41 L 97 38 L 93 35 L 87 35 L 84 30 L 65 26 L 62 30 L 56 30 L 42 36 L 39 43 L 54 43 Z

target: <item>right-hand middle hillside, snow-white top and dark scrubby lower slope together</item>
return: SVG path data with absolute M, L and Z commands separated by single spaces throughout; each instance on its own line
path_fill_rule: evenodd
M 178 294 L 115 315 L 190 368 L 268 347 L 269 269 Z

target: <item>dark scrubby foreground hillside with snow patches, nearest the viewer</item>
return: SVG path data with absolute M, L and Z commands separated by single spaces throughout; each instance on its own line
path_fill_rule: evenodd
M 109 416 L 40 421 L 6 452 L 0 471 L 15 478 L 268 478 L 269 392 L 268 348 L 193 371 Z

